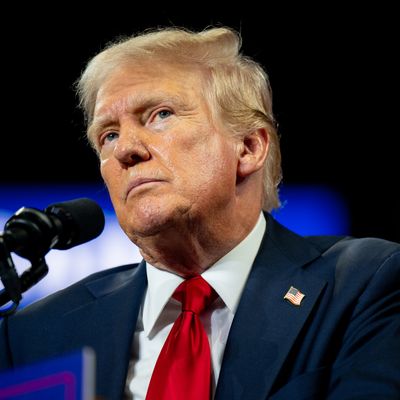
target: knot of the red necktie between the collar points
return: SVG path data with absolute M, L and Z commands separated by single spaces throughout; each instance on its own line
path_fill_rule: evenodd
M 173 297 L 182 303 L 182 311 L 200 314 L 216 299 L 217 293 L 198 275 L 182 282 Z

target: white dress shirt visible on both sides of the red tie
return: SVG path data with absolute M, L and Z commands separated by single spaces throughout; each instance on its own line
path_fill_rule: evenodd
M 201 276 L 219 298 L 200 316 L 210 342 L 213 393 L 236 308 L 251 266 L 264 236 L 266 221 L 261 213 L 249 235 Z M 146 264 L 148 288 L 139 312 L 126 385 L 126 398 L 144 400 L 158 355 L 181 312 L 172 298 L 183 278 Z

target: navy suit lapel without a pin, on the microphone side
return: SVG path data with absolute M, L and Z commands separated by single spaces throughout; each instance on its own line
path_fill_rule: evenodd
M 97 394 L 104 398 L 122 396 L 132 335 L 146 286 L 142 262 L 137 268 L 87 283 L 86 288 L 96 300 L 64 315 L 71 321 L 79 318 L 79 336 L 96 353 Z M 90 321 L 87 327 L 86 320 Z

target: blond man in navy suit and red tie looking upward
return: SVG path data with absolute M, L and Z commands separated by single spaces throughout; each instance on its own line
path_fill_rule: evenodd
M 204 385 L 218 400 L 399 397 L 400 246 L 302 238 L 273 220 L 281 173 L 269 82 L 239 47 L 229 29 L 167 29 L 88 64 L 79 82 L 88 137 L 144 261 L 4 321 L 3 368 L 90 346 L 106 399 L 176 398 L 159 376 L 177 391 L 189 382 L 189 400 Z M 184 382 L 190 368 L 163 357 L 188 312 L 174 293 L 199 279 L 216 297 L 198 316 L 189 310 L 211 370 Z

